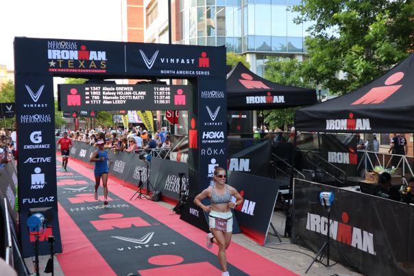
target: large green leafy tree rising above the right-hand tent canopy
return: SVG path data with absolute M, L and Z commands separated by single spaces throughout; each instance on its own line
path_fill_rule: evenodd
M 335 94 L 365 86 L 414 51 L 413 1 L 306 0 L 293 10 L 297 23 L 313 24 L 303 73 Z

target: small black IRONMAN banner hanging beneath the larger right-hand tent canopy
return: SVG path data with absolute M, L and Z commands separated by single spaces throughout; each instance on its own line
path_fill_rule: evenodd
M 356 175 L 358 166 L 356 136 L 352 134 L 320 134 L 320 136 L 323 146 L 321 147 L 322 157 L 332 165 L 341 168 L 346 175 Z

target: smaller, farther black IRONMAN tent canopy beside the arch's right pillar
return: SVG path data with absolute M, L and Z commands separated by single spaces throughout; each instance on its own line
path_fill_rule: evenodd
M 314 89 L 283 86 L 249 71 L 239 62 L 227 75 L 228 110 L 273 110 L 312 105 Z

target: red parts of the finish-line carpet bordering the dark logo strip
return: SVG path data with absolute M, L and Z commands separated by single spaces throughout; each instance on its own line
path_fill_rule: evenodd
M 60 160 L 59 156 L 58 160 Z M 71 158 L 69 161 L 69 168 L 73 169 L 75 173 L 78 173 L 90 179 L 89 183 L 95 181 L 93 177 L 93 171 L 90 168 L 86 168 L 85 164 L 81 164 L 81 162 L 75 161 Z M 58 175 L 66 175 L 67 177 L 70 177 L 70 174 L 70 172 L 60 174 L 58 173 Z M 166 225 L 170 229 L 173 229 L 173 231 L 175 231 L 177 234 L 184 236 L 186 239 L 191 240 L 195 244 L 198 244 L 200 253 L 203 251 L 208 251 L 208 249 L 205 247 L 206 234 L 204 231 L 201 231 L 196 227 L 193 227 L 192 225 L 181 221 L 178 215 L 173 214 L 171 210 L 162 207 L 162 205 L 158 203 L 149 201 L 147 199 L 129 201 L 130 197 L 134 193 L 134 190 L 123 187 L 121 185 L 123 182 L 124 181 L 121 179 L 110 177 L 108 180 L 108 190 L 110 194 L 112 193 L 113 195 L 119 197 L 119 199 L 126 201 L 126 203 L 134 206 L 138 210 L 141 210 L 149 216 L 156 218 L 157 221 L 163 225 Z M 72 179 L 69 181 L 69 179 L 62 179 L 62 181 L 59 181 L 58 185 L 70 185 L 66 187 L 73 188 L 75 187 L 73 185 L 84 185 L 84 183 L 85 181 L 82 180 L 73 181 Z M 99 192 L 102 192 L 101 188 L 99 189 Z M 80 195 L 77 195 L 77 198 L 69 198 L 68 201 L 70 203 L 73 203 L 74 199 L 80 199 L 79 196 Z M 88 201 L 88 194 L 83 194 L 82 197 L 86 199 L 85 202 L 90 202 Z M 59 201 L 60 200 L 61 199 L 59 199 Z M 75 203 L 77 203 L 77 201 L 75 201 Z M 106 261 L 107 259 L 103 258 L 101 253 L 95 249 L 93 243 L 90 242 L 90 240 L 88 240 L 88 237 L 84 234 L 84 232 L 82 232 L 80 225 L 76 225 L 71 216 L 69 216 L 69 214 L 64 210 L 64 208 L 62 208 L 61 205 L 59 207 L 63 253 L 58 255 L 58 260 L 62 266 L 62 271 L 64 274 L 80 275 L 80 272 L 82 271 L 82 275 L 116 275 L 116 273 L 112 270 L 110 264 L 108 264 Z M 210 252 L 217 254 L 217 247 L 214 246 Z M 168 252 L 166 251 L 165 254 L 168 254 Z M 191 252 L 191 254 L 197 254 L 197 252 Z M 157 257 L 160 257 L 160 255 Z M 163 258 L 162 260 L 171 260 L 173 257 L 174 256 L 170 256 L 169 258 Z M 175 257 L 178 258 L 176 255 Z M 278 266 L 278 264 L 275 264 L 234 242 L 230 244 L 230 247 L 227 251 L 227 258 L 229 264 L 235 268 L 238 268 L 240 271 L 243 271 L 242 274 L 295 275 L 295 273 L 292 273 L 286 268 Z M 90 260 L 90 262 L 88 262 L 88 260 Z M 149 258 L 148 262 L 151 264 L 160 265 L 158 262 L 162 262 L 162 260 L 157 260 L 156 257 L 153 257 Z M 175 271 L 175 269 L 178 269 L 179 266 L 173 266 L 172 264 L 169 265 L 168 263 L 162 265 L 164 265 L 162 268 L 147 268 L 141 270 L 138 268 L 136 272 L 138 272 L 140 275 L 177 275 L 178 271 Z M 188 275 L 217 274 L 217 268 L 214 265 L 210 264 L 210 262 L 204 262 L 202 258 L 199 260 L 199 262 L 196 263 L 180 264 L 179 271 L 180 275 L 184 275 L 182 271 L 187 271 Z M 234 275 L 234 273 L 232 273 L 232 275 Z

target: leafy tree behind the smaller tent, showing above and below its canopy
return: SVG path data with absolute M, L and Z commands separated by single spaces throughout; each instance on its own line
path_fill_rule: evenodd
M 310 79 L 303 77 L 303 63 L 298 60 L 289 58 L 273 59 L 267 62 L 265 70 L 265 79 L 282 84 L 285 86 L 300 86 L 313 88 Z M 265 123 L 270 129 L 279 127 L 287 129 L 293 125 L 296 108 L 281 108 L 277 110 L 265 110 Z

